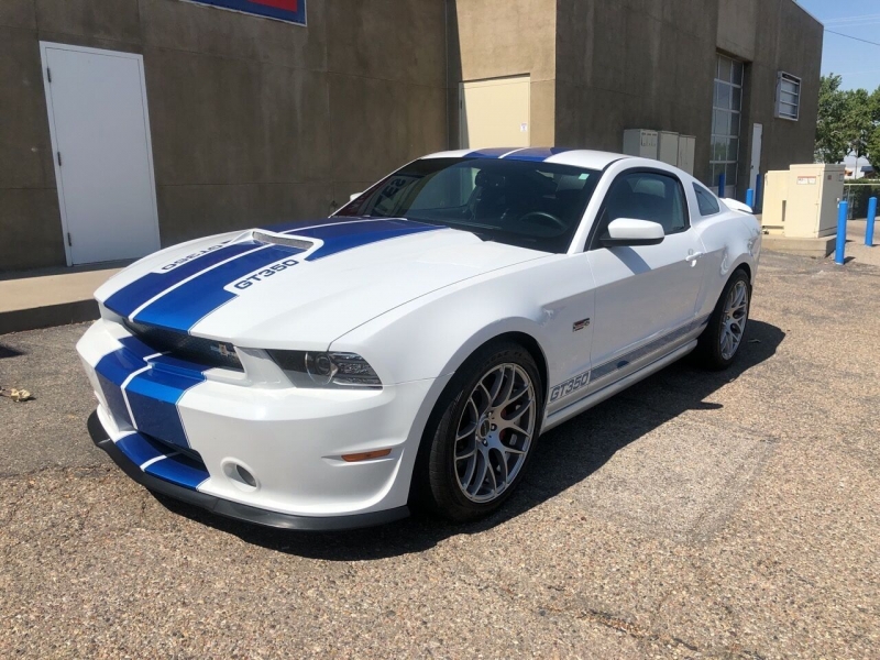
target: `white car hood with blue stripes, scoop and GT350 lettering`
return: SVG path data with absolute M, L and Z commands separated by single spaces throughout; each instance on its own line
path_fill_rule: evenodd
M 410 220 L 327 218 L 163 250 L 96 298 L 136 323 L 244 348 L 324 350 L 419 296 L 546 256 Z

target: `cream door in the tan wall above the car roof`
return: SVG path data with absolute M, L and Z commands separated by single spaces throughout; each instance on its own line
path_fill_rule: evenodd
M 531 145 L 529 76 L 462 82 L 461 148 Z

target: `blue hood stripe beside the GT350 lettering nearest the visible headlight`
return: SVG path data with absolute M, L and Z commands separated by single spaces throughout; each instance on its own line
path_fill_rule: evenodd
M 168 330 L 189 332 L 199 320 L 237 297 L 237 294 L 223 287 L 301 252 L 304 251 L 294 248 L 270 245 L 244 254 L 168 292 L 139 311 L 134 320 Z

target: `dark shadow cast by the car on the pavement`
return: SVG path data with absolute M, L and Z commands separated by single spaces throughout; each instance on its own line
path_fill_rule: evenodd
M 785 333 L 751 320 L 737 362 L 707 372 L 685 358 L 541 437 L 524 482 L 495 514 L 453 525 L 422 513 L 382 527 L 354 531 L 304 532 L 249 525 L 210 514 L 162 495 L 175 514 L 278 552 L 326 561 L 364 561 L 420 552 L 462 534 L 480 534 L 541 505 L 588 479 L 629 443 L 688 410 L 721 408 L 705 399 L 744 372 L 770 359 Z M 579 513 L 573 513 L 579 516 Z

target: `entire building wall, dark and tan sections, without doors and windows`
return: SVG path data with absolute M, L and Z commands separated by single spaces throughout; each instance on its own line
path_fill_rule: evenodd
M 0 0 L 0 271 L 64 264 L 40 41 L 143 54 L 162 243 L 324 216 L 457 147 L 459 84 L 530 76 L 534 145 L 696 136 L 710 178 L 717 52 L 747 62 L 761 170 L 810 162 L 822 26 L 792 0 L 309 0 L 308 26 L 180 0 Z M 773 117 L 777 73 L 801 117 Z

